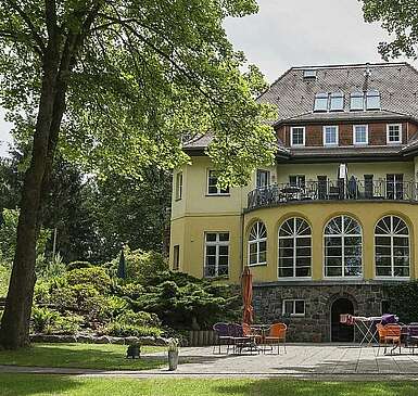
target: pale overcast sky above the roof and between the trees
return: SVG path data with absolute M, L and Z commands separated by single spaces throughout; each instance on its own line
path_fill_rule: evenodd
M 357 0 L 258 0 L 258 4 L 256 15 L 229 18 L 225 28 L 235 48 L 269 82 L 291 66 L 381 62 L 377 47 L 388 36 L 379 24 L 364 22 Z M 0 108 L 0 155 L 5 155 L 12 128 L 3 118 Z

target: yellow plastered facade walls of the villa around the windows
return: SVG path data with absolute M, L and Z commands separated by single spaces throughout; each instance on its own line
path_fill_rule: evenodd
M 316 180 L 318 175 L 337 179 L 339 164 L 278 164 L 270 168 L 273 182 L 287 182 L 289 175 L 305 175 L 306 181 Z M 376 179 L 387 174 L 403 174 L 405 181 L 416 181 L 417 162 L 349 164 L 350 175 L 373 174 Z M 173 267 L 173 246 L 179 246 L 179 270 L 195 277 L 203 277 L 205 232 L 230 233 L 229 278 L 238 283 L 242 268 L 248 263 L 248 237 L 251 226 L 262 220 L 267 229 L 267 264 L 253 266 L 255 282 L 278 281 L 278 229 L 290 217 L 302 217 L 312 228 L 312 280 L 326 280 L 324 276 L 324 228 L 334 216 L 349 215 L 360 223 L 363 231 L 363 278 L 375 279 L 375 227 L 387 215 L 404 219 L 409 228 L 410 278 L 418 276 L 418 252 L 415 248 L 418 225 L 418 204 L 400 201 L 302 201 L 277 204 L 245 210 L 246 195 L 255 188 L 255 178 L 244 188 L 232 188 L 230 195 L 207 195 L 207 171 L 211 162 L 205 156 L 192 157 L 192 165 L 186 165 L 182 197 L 175 199 L 172 212 L 170 266 Z M 176 180 L 176 173 L 174 180 Z

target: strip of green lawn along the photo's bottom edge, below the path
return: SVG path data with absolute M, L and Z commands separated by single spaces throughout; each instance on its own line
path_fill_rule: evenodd
M 414 396 L 413 382 L 315 382 L 303 380 L 103 379 L 0 374 L 2 396 Z

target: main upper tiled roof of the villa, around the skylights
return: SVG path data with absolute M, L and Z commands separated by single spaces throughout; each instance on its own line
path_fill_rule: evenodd
M 368 78 L 365 76 L 367 68 L 370 71 Z M 304 79 L 305 69 L 315 69 L 316 78 Z M 292 67 L 258 100 L 276 104 L 278 120 L 283 120 L 313 115 L 316 93 L 342 91 L 344 113 L 315 113 L 314 117 L 343 117 L 343 114 L 353 114 L 350 112 L 350 93 L 364 90 L 380 92 L 382 113 L 392 112 L 418 119 L 418 72 L 407 63 Z M 381 112 L 359 113 L 365 113 L 364 116 L 382 115 L 376 114 Z

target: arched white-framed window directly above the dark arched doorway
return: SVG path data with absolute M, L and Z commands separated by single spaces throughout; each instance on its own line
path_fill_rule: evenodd
M 337 216 L 324 231 L 325 276 L 362 276 L 362 226 L 350 216 Z

